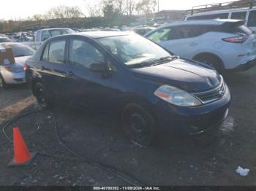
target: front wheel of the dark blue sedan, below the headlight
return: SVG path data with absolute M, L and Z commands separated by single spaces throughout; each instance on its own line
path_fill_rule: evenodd
M 156 124 L 152 114 L 138 104 L 127 104 L 121 114 L 121 127 L 129 139 L 144 146 L 156 138 Z

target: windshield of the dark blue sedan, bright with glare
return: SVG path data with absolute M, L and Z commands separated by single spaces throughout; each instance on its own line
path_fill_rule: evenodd
M 150 65 L 162 58 L 173 56 L 154 42 L 136 34 L 105 37 L 98 40 L 119 61 L 130 67 L 141 66 L 141 63 Z

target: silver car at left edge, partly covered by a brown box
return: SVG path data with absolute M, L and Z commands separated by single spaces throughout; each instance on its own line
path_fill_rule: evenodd
M 7 85 L 25 83 L 24 63 L 31 55 L 34 55 L 34 50 L 31 49 L 31 47 L 16 42 L 8 42 L 4 44 L 12 47 L 15 63 L 0 65 L 0 88 L 7 87 Z

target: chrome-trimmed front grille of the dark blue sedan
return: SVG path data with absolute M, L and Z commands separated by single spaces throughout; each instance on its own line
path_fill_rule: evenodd
M 193 95 L 195 95 L 203 104 L 208 104 L 222 98 L 223 95 L 225 95 L 226 88 L 226 84 L 222 78 L 218 87 L 203 93 L 193 93 Z

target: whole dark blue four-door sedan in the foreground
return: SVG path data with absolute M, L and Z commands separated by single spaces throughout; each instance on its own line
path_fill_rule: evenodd
M 118 117 L 130 139 L 159 129 L 204 133 L 227 117 L 230 92 L 211 66 L 188 61 L 137 34 L 94 31 L 46 40 L 26 62 L 37 101 Z

